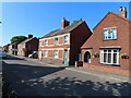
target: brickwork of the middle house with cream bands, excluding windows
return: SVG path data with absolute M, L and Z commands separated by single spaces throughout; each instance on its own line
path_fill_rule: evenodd
M 62 21 L 63 22 L 63 21 Z M 63 25 L 62 25 L 63 26 Z M 64 30 L 64 27 L 62 27 L 60 30 Z M 81 46 L 85 42 L 85 40 L 92 35 L 92 32 L 90 30 L 88 26 L 85 22 L 82 22 L 79 26 L 76 26 L 73 30 L 69 33 L 63 33 L 61 35 L 51 36 L 41 38 L 41 46 L 39 46 L 39 51 L 44 50 L 48 51 L 48 56 L 46 59 L 55 59 L 53 58 L 53 50 L 58 50 L 58 59 L 55 61 L 58 62 L 60 60 L 61 63 L 64 61 L 64 51 L 68 51 L 68 63 L 70 65 L 74 65 L 76 56 L 81 51 Z M 66 44 L 64 42 L 64 36 L 69 36 L 69 40 Z M 58 37 L 58 45 L 55 45 L 55 38 Z M 43 41 L 47 40 L 48 45 L 44 46 Z M 41 56 L 41 54 L 39 54 Z M 39 57 L 40 58 L 40 57 Z M 43 58 L 44 60 L 45 58 Z M 53 61 L 53 60 L 52 60 Z

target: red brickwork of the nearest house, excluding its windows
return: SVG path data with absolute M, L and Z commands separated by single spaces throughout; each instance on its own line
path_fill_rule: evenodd
M 108 73 L 120 74 L 120 75 L 129 75 L 129 60 L 120 58 L 121 53 L 129 54 L 129 21 L 123 19 L 112 12 L 109 12 L 94 28 L 94 34 L 91 38 L 86 40 L 86 42 L 82 46 L 82 61 L 84 62 L 84 54 L 86 51 L 91 52 L 91 63 L 83 63 L 83 66 L 91 68 L 96 71 L 105 71 Z M 107 27 L 116 27 L 117 28 L 117 39 L 114 40 L 103 40 L 103 30 Z M 95 40 L 95 41 L 94 41 Z M 84 49 L 90 48 L 92 49 Z M 100 47 L 121 47 L 119 50 L 119 65 L 107 65 L 100 64 L 100 57 L 94 58 L 93 54 L 97 52 L 100 54 Z

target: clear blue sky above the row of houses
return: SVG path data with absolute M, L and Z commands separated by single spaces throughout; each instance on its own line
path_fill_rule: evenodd
M 63 17 L 70 23 L 83 19 L 93 29 L 109 11 L 118 13 L 120 7 L 129 12 L 129 2 L 2 2 L 0 46 L 10 44 L 13 36 L 43 37 L 60 28 Z

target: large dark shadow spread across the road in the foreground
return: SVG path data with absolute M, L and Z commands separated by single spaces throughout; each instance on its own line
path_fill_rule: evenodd
M 10 71 L 9 71 L 10 70 Z M 48 82 L 45 77 L 64 68 L 33 66 L 24 64 L 5 64 L 3 62 L 3 75 L 13 73 L 20 76 L 24 84 L 37 90 L 43 96 L 131 96 L 129 83 L 109 83 L 81 81 L 76 77 L 51 77 Z M 13 75 L 12 74 L 12 75 Z M 7 76 L 8 77 L 8 76 Z M 15 77 L 14 77 L 15 78 Z M 14 83 L 19 83 L 15 82 Z M 20 85 L 20 84 L 19 84 Z M 25 94 L 28 93 L 24 88 Z M 33 93 L 31 93 L 32 95 Z

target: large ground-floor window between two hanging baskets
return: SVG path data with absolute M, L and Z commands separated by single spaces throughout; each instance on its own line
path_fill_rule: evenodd
M 119 50 L 100 50 L 100 63 L 104 64 L 119 64 Z

